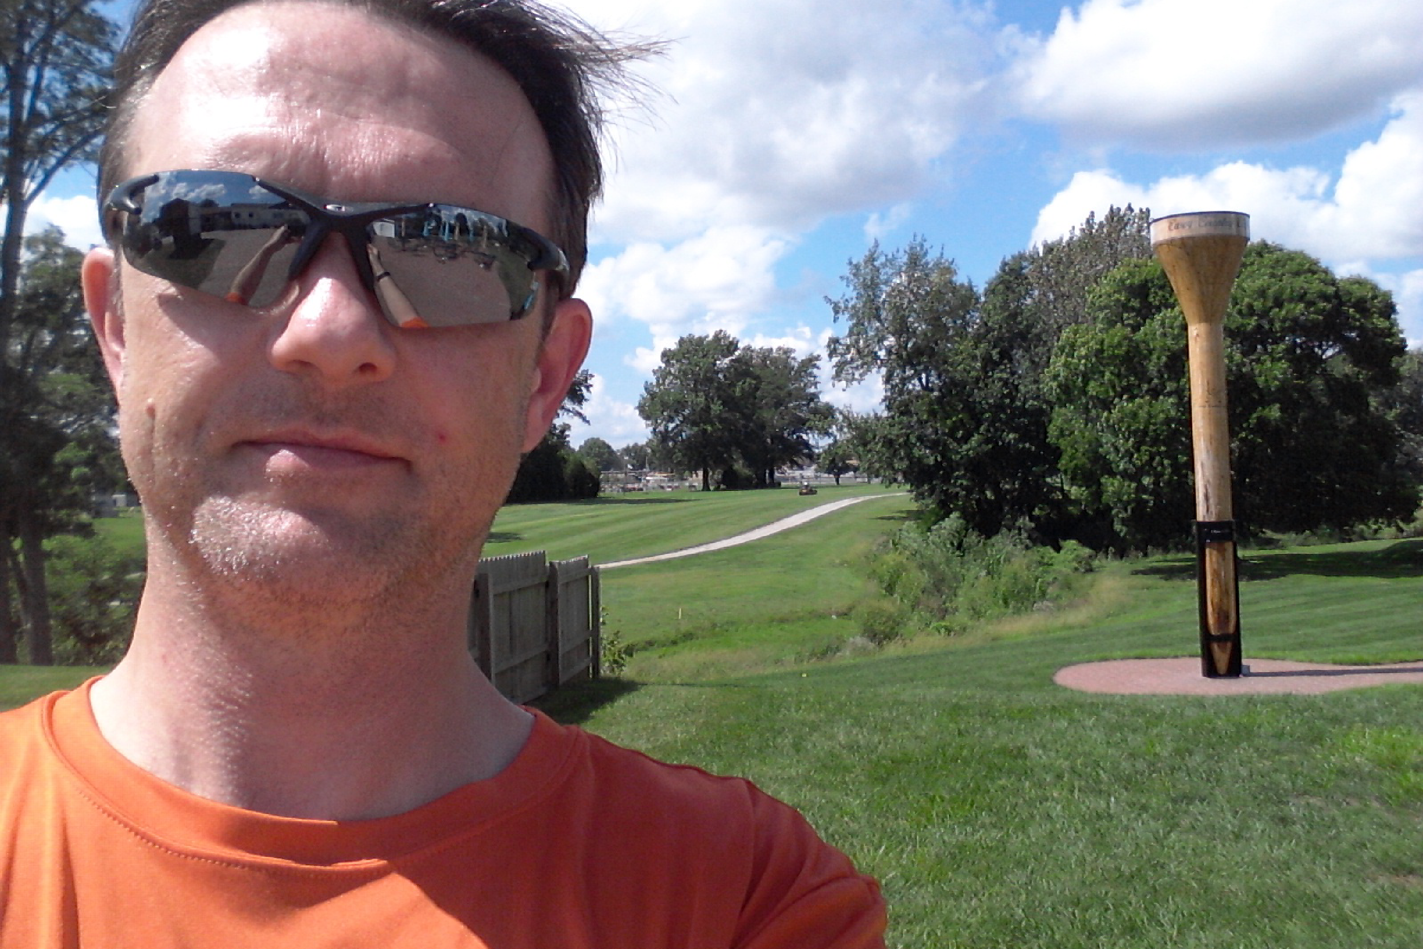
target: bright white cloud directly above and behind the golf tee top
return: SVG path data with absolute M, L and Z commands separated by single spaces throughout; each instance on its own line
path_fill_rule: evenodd
M 1220 165 L 1205 175 L 1161 178 L 1150 185 L 1111 171 L 1077 172 L 1037 216 L 1033 242 L 1057 238 L 1087 212 L 1109 205 L 1150 208 L 1155 216 L 1185 211 L 1244 211 L 1255 238 L 1301 248 L 1326 260 L 1423 255 L 1423 94 L 1395 102 L 1379 138 L 1355 148 L 1338 174 L 1319 168 Z

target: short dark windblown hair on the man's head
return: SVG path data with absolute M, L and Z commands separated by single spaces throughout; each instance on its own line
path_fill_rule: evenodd
M 655 43 L 615 43 L 593 27 L 529 0 L 309 0 L 354 7 L 443 36 L 514 77 L 534 107 L 554 155 L 554 213 L 548 235 L 568 255 L 568 296 L 588 259 L 588 212 L 602 191 L 599 134 L 605 97 L 636 84 L 625 64 L 656 53 Z M 154 81 L 199 28 L 260 0 L 147 0 L 114 61 L 112 108 L 100 151 L 100 202 L 124 168 L 134 114 Z

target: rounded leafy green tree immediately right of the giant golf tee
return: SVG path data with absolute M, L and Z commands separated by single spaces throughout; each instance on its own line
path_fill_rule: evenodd
M 1413 514 L 1403 433 L 1383 403 L 1406 351 L 1396 314 L 1372 280 L 1336 280 L 1275 245 L 1247 250 L 1227 333 L 1239 353 L 1237 507 L 1251 522 L 1299 532 Z

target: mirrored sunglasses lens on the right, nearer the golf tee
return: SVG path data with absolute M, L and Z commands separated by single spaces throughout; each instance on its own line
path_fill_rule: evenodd
M 377 221 L 367 235 L 371 269 L 390 273 L 376 295 L 397 326 L 411 312 L 425 326 L 505 323 L 531 302 L 531 255 L 498 218 L 434 205 Z

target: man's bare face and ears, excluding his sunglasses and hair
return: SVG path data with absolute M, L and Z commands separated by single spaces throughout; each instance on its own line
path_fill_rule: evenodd
M 492 63 L 314 3 L 248 6 L 195 34 L 142 102 L 129 175 L 248 172 L 330 201 L 435 201 L 548 232 L 552 162 Z M 558 304 L 509 323 L 396 329 L 340 238 L 266 310 L 97 250 L 85 290 L 149 519 L 151 576 L 283 599 L 467 576 L 521 450 L 586 349 Z M 235 588 L 236 589 L 236 588 Z

